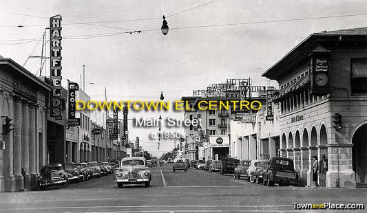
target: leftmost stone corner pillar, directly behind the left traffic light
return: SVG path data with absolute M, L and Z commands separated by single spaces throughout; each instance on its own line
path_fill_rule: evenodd
M 14 95 L 10 94 L 10 109 L 8 116 L 12 118 L 13 123 L 13 131 L 10 131 L 8 135 L 3 135 L 3 139 L 5 140 L 5 150 L 4 150 L 4 159 L 6 159 L 6 164 L 4 165 L 4 183 L 5 183 L 5 191 L 6 192 L 14 192 L 15 191 L 15 177 L 14 177 Z

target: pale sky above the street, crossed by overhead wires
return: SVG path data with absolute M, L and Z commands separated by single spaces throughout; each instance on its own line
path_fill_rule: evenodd
M 39 38 L 50 16 L 61 14 L 64 86 L 67 79 L 80 83 L 85 65 L 85 91 L 92 100 L 104 100 L 106 87 L 108 100 L 158 101 L 163 91 L 165 101 L 174 102 L 227 78 L 277 86 L 261 77 L 266 69 L 310 34 L 366 27 L 366 8 L 367 1 L 340 0 L 0 0 L 0 55 L 39 75 L 40 59 L 28 57 L 41 56 Z M 163 14 L 166 36 L 160 32 Z M 309 19 L 326 16 L 332 17 Z M 280 21 L 289 19 L 304 20 Z M 141 32 L 126 33 L 135 30 Z M 49 48 L 47 43 L 47 55 Z M 50 76 L 49 67 L 46 62 L 43 76 Z M 161 114 L 183 118 L 182 112 Z M 158 118 L 159 112 L 129 113 L 135 117 Z M 174 148 L 165 141 L 158 150 L 149 139 L 158 128 L 129 124 L 129 137 L 139 136 L 153 155 Z

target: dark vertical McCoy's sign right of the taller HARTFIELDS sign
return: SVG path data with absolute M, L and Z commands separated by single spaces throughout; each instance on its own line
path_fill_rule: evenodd
M 75 118 L 75 104 L 76 94 L 75 91 L 79 90 L 79 85 L 67 80 L 67 125 L 68 126 L 80 126 L 81 119 Z

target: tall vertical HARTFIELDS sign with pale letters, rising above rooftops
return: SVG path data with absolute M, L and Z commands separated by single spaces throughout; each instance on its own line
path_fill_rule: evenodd
M 61 101 L 61 15 L 50 18 L 50 81 L 52 86 L 50 117 L 62 120 Z

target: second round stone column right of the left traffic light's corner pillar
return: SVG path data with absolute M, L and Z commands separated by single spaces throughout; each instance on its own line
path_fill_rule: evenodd
M 29 127 L 30 113 L 28 101 L 23 101 L 23 128 L 21 131 L 21 167 L 24 175 L 24 188 L 30 188 L 30 150 L 29 150 Z

